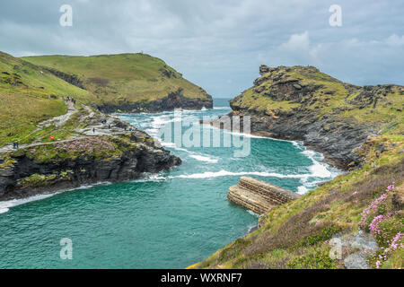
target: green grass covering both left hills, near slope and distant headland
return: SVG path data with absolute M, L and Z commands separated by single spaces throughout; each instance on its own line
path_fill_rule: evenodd
M 86 90 L 58 78 L 46 67 L 74 74 Z M 148 55 L 16 58 L 0 52 L 0 147 L 13 141 L 48 142 L 50 135 L 57 140 L 75 135 L 78 117 L 85 112 L 83 104 L 156 100 L 179 88 L 185 97 L 206 99 L 205 91 L 161 59 Z M 66 113 L 66 97 L 77 100 L 80 113 L 65 126 L 38 129 L 41 121 Z

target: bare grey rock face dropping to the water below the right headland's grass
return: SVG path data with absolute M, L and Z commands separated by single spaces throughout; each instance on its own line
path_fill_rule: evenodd
M 368 135 L 377 133 L 372 126 L 359 125 L 355 121 L 336 122 L 333 117 L 319 119 L 303 110 L 279 111 L 274 117 L 265 111 L 234 106 L 232 109 L 236 112 L 232 112 L 230 117 L 250 116 L 252 133 L 303 141 L 309 148 L 323 152 L 331 163 L 341 169 L 347 169 L 353 161 L 356 164 L 361 162 L 356 148 L 365 142 Z

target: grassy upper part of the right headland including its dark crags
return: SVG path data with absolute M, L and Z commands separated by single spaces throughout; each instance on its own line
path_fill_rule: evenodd
M 358 87 L 342 83 L 315 67 L 297 65 L 261 69 L 254 86 L 233 99 L 232 104 L 241 109 L 266 110 L 269 114 L 303 106 L 317 117 L 338 112 L 341 119 L 351 117 L 358 123 L 387 123 L 392 118 L 402 121 L 403 98 L 402 86 Z

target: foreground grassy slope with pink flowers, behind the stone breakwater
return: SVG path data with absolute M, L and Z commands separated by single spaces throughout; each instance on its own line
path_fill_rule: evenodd
M 371 231 L 380 249 L 365 259 L 374 268 L 402 268 L 404 144 L 391 143 L 389 137 L 373 138 L 364 145 L 368 156 L 362 169 L 351 170 L 293 202 L 274 207 L 260 218 L 258 230 L 194 267 L 344 268 L 343 259 L 359 250 L 344 247 L 341 259 L 332 259 L 329 239 L 354 235 L 360 229 L 370 231 L 374 218 L 382 215 L 379 230 Z M 388 148 L 377 156 L 380 144 Z M 389 187 L 392 184 L 394 188 Z M 374 207 L 381 196 L 382 207 Z M 373 210 L 368 215 L 369 208 Z

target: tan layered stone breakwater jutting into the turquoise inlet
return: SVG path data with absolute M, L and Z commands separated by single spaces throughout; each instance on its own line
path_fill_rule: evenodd
M 293 191 L 250 177 L 240 178 L 239 184 L 230 187 L 227 194 L 227 198 L 234 204 L 259 214 L 267 213 L 272 207 L 299 197 Z

